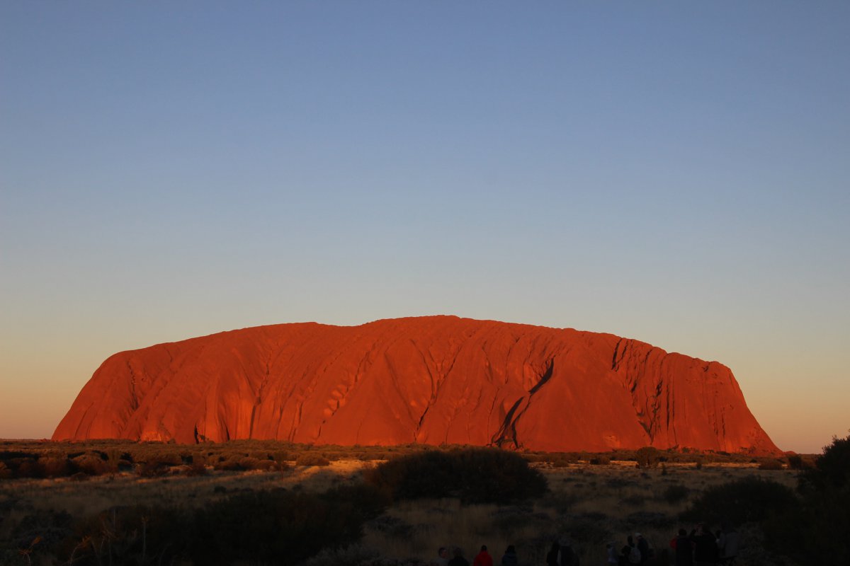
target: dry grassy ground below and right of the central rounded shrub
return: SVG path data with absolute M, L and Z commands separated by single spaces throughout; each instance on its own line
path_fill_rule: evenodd
M 363 546 L 385 557 L 410 558 L 413 563 L 416 558 L 431 557 L 439 546 L 460 546 L 469 558 L 482 544 L 494 555 L 513 544 L 521 563 L 542 564 L 552 542 L 570 535 L 581 563 L 602 564 L 607 541 L 615 541 L 619 551 L 626 536 L 636 532 L 659 551 L 666 549 L 679 527 L 679 513 L 706 487 L 749 475 L 796 485 L 796 474 L 788 470 L 763 471 L 755 466 L 698 470 L 683 465 L 646 471 L 635 468 L 633 462 L 614 462 L 604 467 L 580 463 L 538 469 L 546 476 L 550 493 L 535 502 L 402 502 L 367 524 Z M 690 530 L 693 524 L 683 526 Z

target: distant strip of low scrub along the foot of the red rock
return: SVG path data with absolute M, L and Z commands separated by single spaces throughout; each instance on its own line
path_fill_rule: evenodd
M 468 446 L 333 446 L 304 445 L 280 440 L 231 440 L 183 445 L 129 440 L 33 441 L 0 440 L 0 479 L 60 478 L 133 473 L 143 477 L 198 475 L 211 471 L 281 471 L 292 466 L 326 466 L 339 460 L 382 461 L 420 453 L 467 449 Z M 580 462 L 609 465 L 634 462 L 639 468 L 666 464 L 750 464 L 762 469 L 812 468 L 814 457 L 753 457 L 728 452 L 661 451 L 646 446 L 634 451 L 516 452 L 527 462 L 566 467 Z

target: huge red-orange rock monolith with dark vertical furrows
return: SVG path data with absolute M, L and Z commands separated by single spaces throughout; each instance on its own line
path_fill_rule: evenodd
M 457 317 L 280 324 L 121 352 L 53 438 L 779 453 L 716 361 Z

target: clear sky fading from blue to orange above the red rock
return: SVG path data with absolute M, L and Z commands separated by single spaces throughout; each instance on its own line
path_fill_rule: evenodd
M 850 429 L 850 4 L 0 3 L 0 438 L 119 350 L 426 314 Z

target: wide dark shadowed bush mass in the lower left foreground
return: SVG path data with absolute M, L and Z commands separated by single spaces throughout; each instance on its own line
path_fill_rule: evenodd
M 313 494 L 284 489 L 241 492 L 194 511 L 114 507 L 77 520 L 55 547 L 62 563 L 298 563 L 360 539 L 385 500 L 357 485 Z

